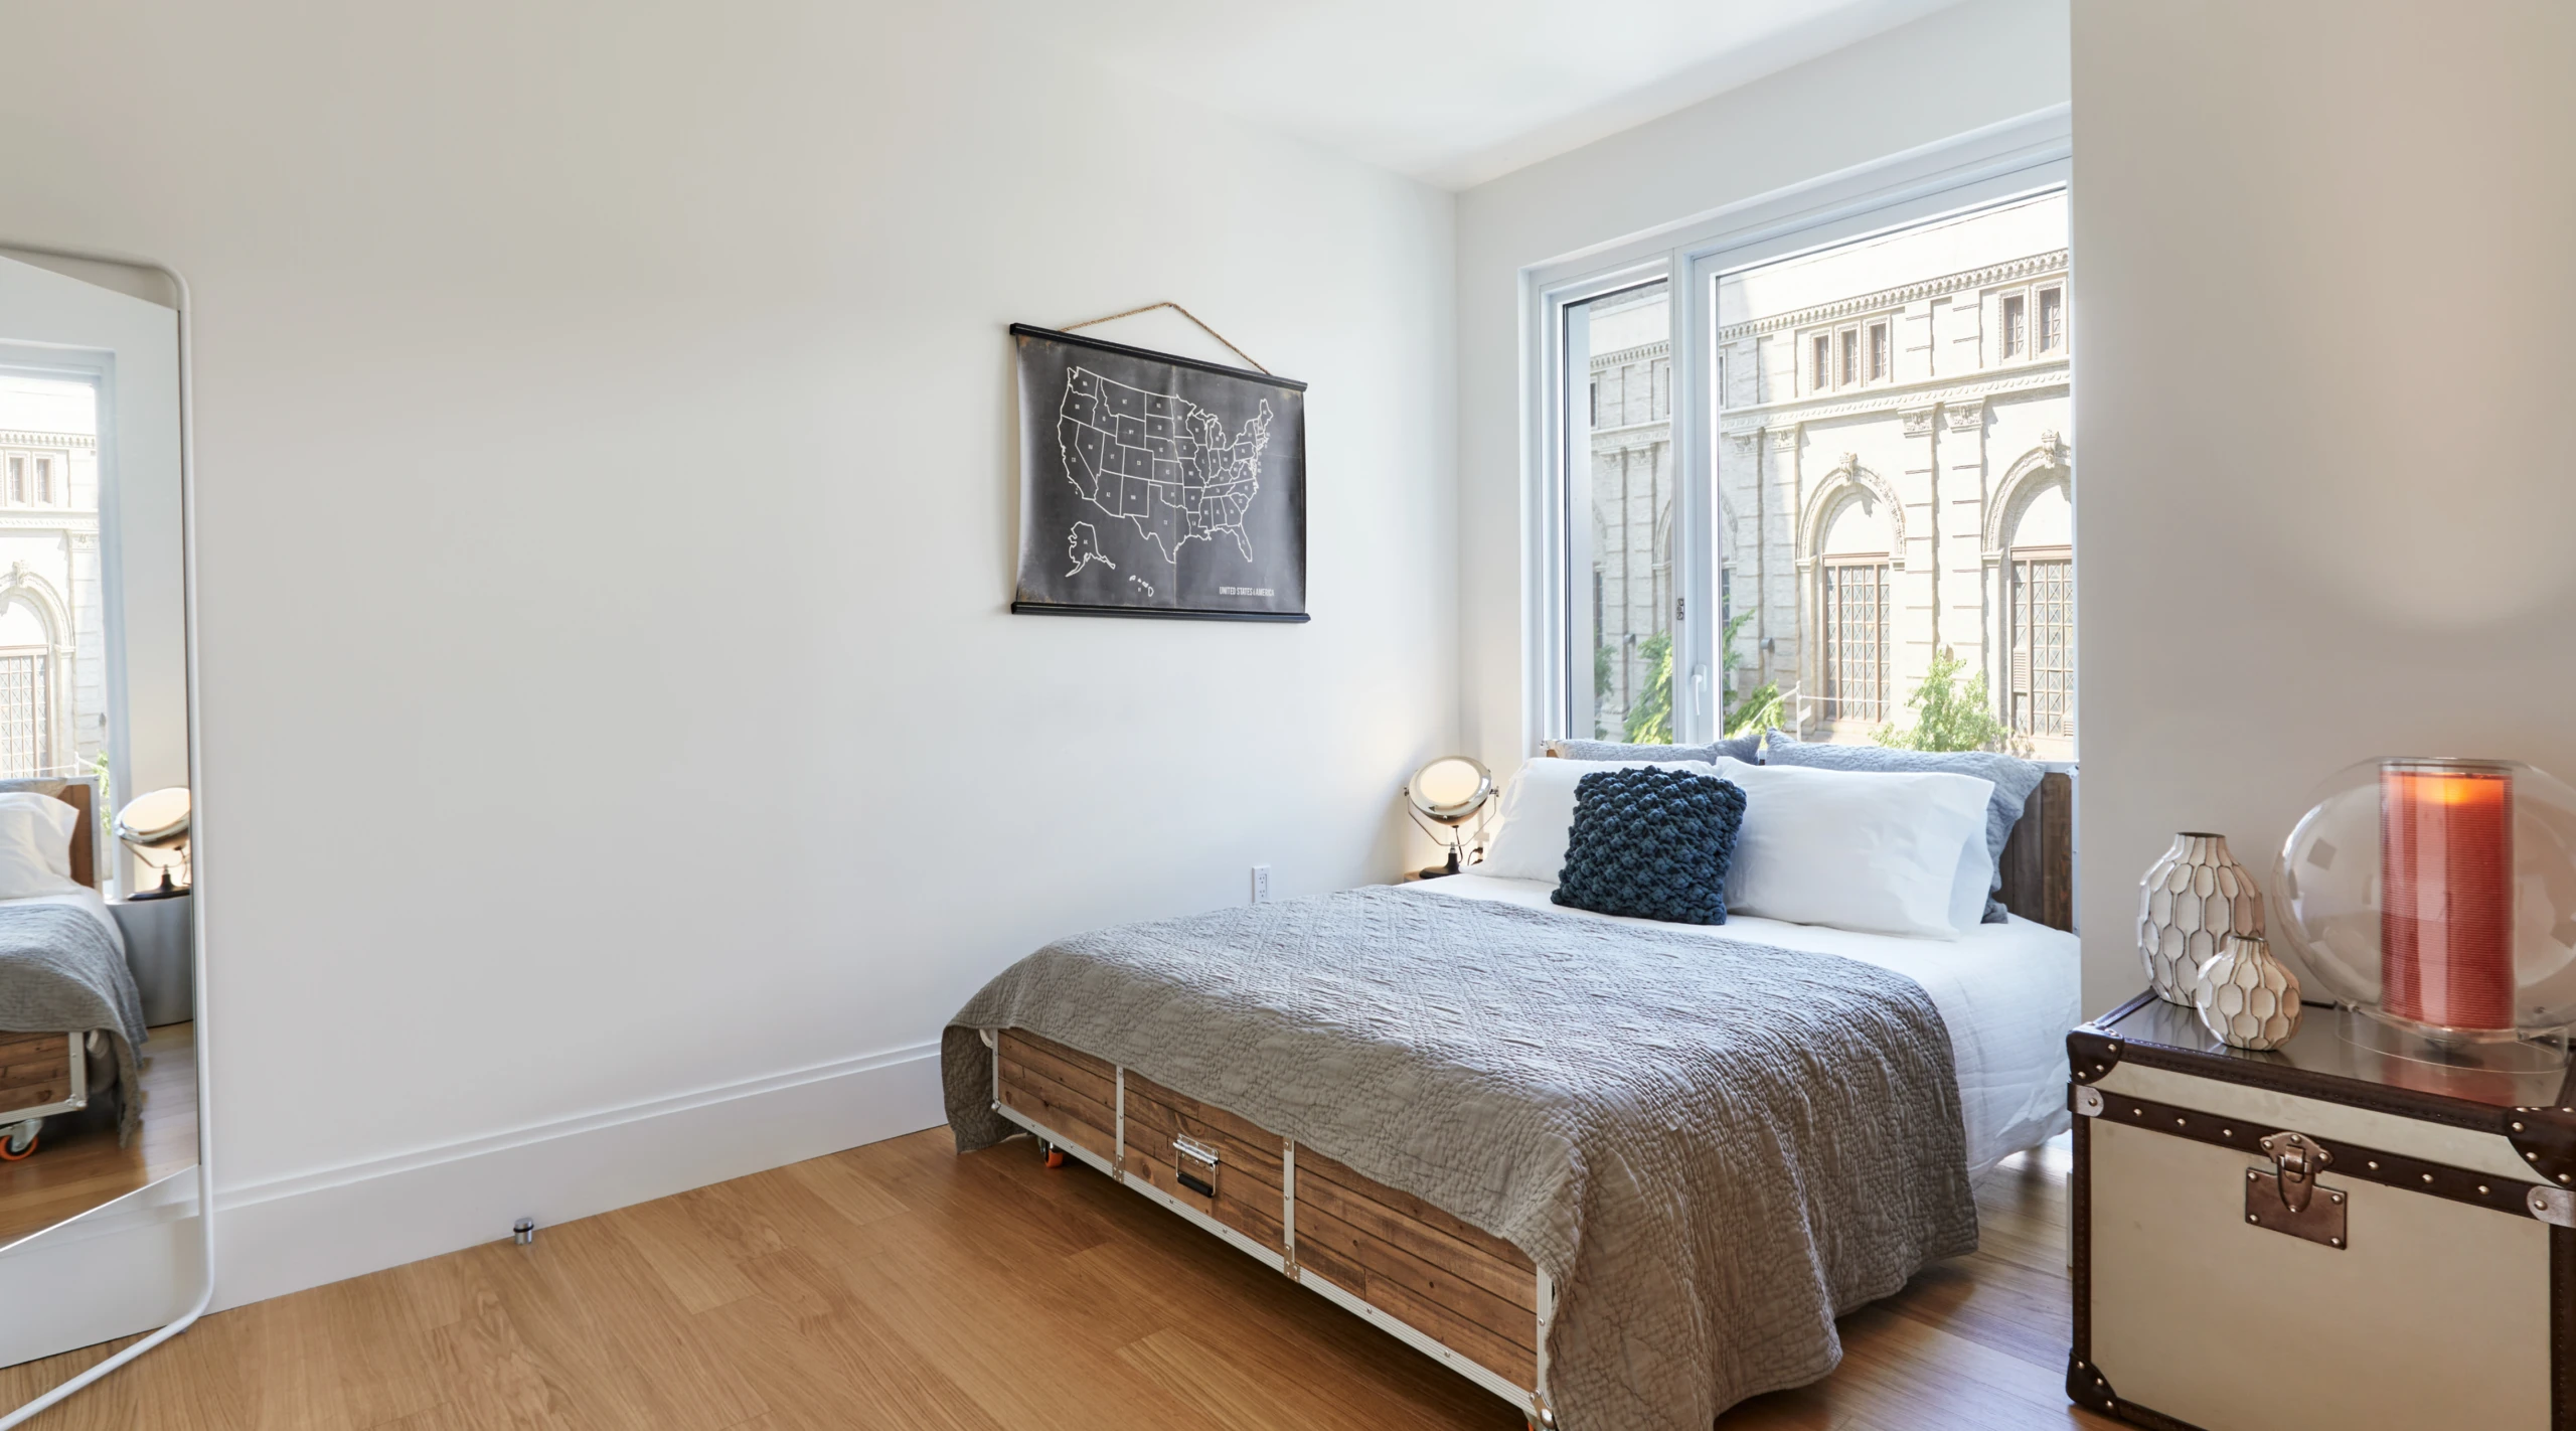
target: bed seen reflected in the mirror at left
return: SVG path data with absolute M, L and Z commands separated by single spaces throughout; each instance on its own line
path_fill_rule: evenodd
M 77 890 L 0 900 L 0 1158 L 41 1147 L 46 1122 L 113 1119 L 134 1134 L 126 1096 L 144 1042 L 142 998 L 124 936 L 98 895 L 95 786 L 70 779 L 0 781 L 77 812 L 70 877 Z

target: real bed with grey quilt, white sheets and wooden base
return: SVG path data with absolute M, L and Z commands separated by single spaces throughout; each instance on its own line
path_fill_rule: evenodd
M 2014 918 L 1958 941 L 1473 871 L 1059 941 L 948 1029 L 951 1124 L 1036 1134 L 1538 1426 L 1698 1431 L 1829 1372 L 1832 1320 L 1971 1251 L 1971 1178 L 2063 1129 L 2069 812 L 2048 776 Z

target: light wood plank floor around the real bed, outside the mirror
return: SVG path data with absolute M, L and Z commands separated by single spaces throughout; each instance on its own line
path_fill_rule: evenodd
M 1984 1251 L 1844 1320 L 1826 1382 L 1721 1431 L 2107 1428 L 2066 1374 L 2066 1145 Z M 111 1348 L 0 1372 L 0 1405 Z M 933 1129 L 216 1312 L 31 1431 L 155 1426 L 1517 1431 L 1275 1271 L 1023 1137 Z

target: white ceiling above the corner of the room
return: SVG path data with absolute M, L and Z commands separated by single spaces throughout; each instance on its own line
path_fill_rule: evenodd
M 1020 21 L 1162 90 L 1466 188 L 1950 3 L 1023 0 Z

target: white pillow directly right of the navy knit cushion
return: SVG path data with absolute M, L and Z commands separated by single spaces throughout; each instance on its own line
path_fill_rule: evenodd
M 1744 828 L 1726 866 L 1728 913 L 1924 939 L 1958 939 L 1984 915 L 1986 884 L 1976 884 L 1976 905 L 1960 890 L 1991 879 L 1984 851 L 1994 781 L 1728 758 L 1716 771 L 1744 789 Z

